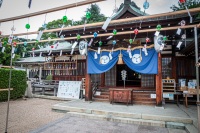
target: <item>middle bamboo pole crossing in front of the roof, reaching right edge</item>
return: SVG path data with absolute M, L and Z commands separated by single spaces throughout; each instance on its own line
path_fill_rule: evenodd
M 189 9 L 189 11 L 191 13 L 192 12 L 200 12 L 200 8 Z M 181 11 L 162 13 L 162 14 L 156 14 L 156 15 L 140 16 L 140 17 L 126 18 L 126 19 L 118 19 L 118 20 L 112 20 L 110 22 L 110 24 L 120 24 L 120 23 L 125 23 L 125 22 L 134 22 L 134 21 L 137 21 L 137 20 L 143 20 L 144 21 L 145 19 L 159 18 L 159 17 L 163 17 L 163 16 L 165 16 L 167 18 L 167 16 L 180 15 L 180 14 L 185 14 L 185 13 L 187 13 L 186 10 L 181 10 Z M 0 22 L 1 22 L 1 20 L 0 20 Z M 90 28 L 91 27 L 98 27 L 98 26 L 102 26 L 103 24 L 104 24 L 104 22 L 98 22 L 98 23 L 92 23 L 92 24 L 86 24 L 86 25 L 77 25 L 77 26 L 65 27 L 65 28 L 63 28 L 63 31 L 65 31 L 65 30 L 83 29 L 84 26 L 87 29 L 87 27 L 90 27 Z M 60 30 L 61 30 L 61 28 L 44 30 L 43 33 L 46 33 L 46 32 L 58 32 Z M 31 35 L 31 34 L 38 34 L 38 31 L 18 33 L 18 34 L 13 34 L 13 35 L 14 36 L 22 36 L 22 35 Z M 4 37 L 7 37 L 7 36 L 10 36 L 10 35 L 4 35 Z

